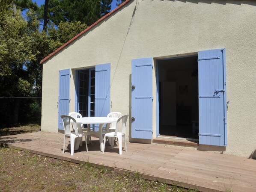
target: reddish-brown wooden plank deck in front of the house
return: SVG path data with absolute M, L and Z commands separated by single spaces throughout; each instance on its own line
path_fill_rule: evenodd
M 203 192 L 256 192 L 256 160 L 242 157 L 130 142 L 127 143 L 128 151 L 123 151 L 122 155 L 117 146 L 111 150 L 109 145 L 102 154 L 98 138 L 88 145 L 89 152 L 83 145 L 71 156 L 68 142 L 67 150 L 62 153 L 63 134 L 44 132 L 3 136 L 0 143 L 57 159 L 77 163 L 88 161 L 98 167 L 104 165 L 116 172 L 137 171 L 149 180 L 175 183 Z

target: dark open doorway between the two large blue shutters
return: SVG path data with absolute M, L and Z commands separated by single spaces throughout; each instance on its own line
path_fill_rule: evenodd
M 158 60 L 159 134 L 198 139 L 198 56 Z

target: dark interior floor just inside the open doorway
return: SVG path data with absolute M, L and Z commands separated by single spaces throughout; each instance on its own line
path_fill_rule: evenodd
M 161 126 L 160 135 L 171 137 L 182 137 L 187 139 L 198 139 L 198 129 L 193 133 L 192 125 L 167 125 Z

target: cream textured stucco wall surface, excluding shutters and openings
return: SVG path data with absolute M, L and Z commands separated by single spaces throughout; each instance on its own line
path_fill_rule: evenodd
M 256 3 L 239 1 L 134 0 L 43 64 L 42 131 L 57 132 L 59 70 L 72 69 L 70 111 L 75 105 L 75 70 L 110 63 L 111 111 L 131 115 L 131 60 L 156 60 L 226 48 L 226 148 L 199 146 L 249 157 L 256 150 Z M 156 137 L 156 100 L 153 101 Z M 130 133 L 130 124 L 127 134 Z M 130 141 L 149 142 L 147 140 Z

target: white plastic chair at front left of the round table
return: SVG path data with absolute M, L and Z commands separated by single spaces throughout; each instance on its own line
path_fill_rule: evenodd
M 79 148 L 79 144 L 78 144 L 78 146 L 74 146 L 75 139 L 77 139 L 78 137 L 83 138 L 83 136 L 85 136 L 86 151 L 88 152 L 86 133 L 83 133 L 83 130 L 80 127 L 77 127 L 77 121 L 75 120 L 75 118 L 73 118 L 69 115 L 60 115 L 60 117 L 62 118 L 63 126 L 64 126 L 63 154 L 65 152 L 66 137 L 70 138 L 70 149 L 71 149 L 70 154 L 71 155 L 74 155 L 74 148 Z M 71 124 L 74 129 L 74 132 L 71 132 L 71 127 L 70 127 Z M 81 140 L 82 140 L 82 138 L 81 138 Z

